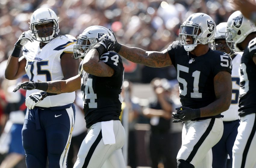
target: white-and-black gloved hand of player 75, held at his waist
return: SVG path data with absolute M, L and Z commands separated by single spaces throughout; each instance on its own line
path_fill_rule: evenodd
M 43 96 L 45 94 L 45 91 L 39 91 L 36 93 L 32 93 L 29 97 L 26 98 L 26 106 L 29 108 L 29 110 L 34 109 L 36 104 L 38 104 L 40 101 L 42 101 L 46 96 Z

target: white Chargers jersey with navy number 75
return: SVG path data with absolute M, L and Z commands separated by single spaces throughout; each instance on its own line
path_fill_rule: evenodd
M 46 82 L 63 79 L 61 70 L 61 54 L 63 52 L 73 53 L 73 45 L 76 38 L 71 35 L 62 35 L 54 38 L 42 49 L 39 41 L 28 42 L 23 46 L 23 56 L 27 59 L 26 72 L 30 81 Z M 68 68 L 68 67 L 67 67 Z M 26 98 L 39 90 L 27 90 Z M 38 107 L 56 107 L 73 103 L 75 92 L 62 93 L 48 96 L 39 102 Z

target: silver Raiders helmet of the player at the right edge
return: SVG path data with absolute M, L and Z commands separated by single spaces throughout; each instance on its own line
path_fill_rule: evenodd
M 226 41 L 233 41 L 235 50 L 240 52 L 236 45 L 245 40 L 251 32 L 256 32 L 255 23 L 243 16 L 240 11 L 232 13 L 227 21 Z

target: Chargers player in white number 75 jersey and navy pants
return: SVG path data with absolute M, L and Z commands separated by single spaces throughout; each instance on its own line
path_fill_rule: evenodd
M 39 8 L 30 19 L 8 59 L 5 77 L 13 80 L 27 73 L 30 81 L 68 79 L 76 75 L 78 60 L 72 58 L 76 38 L 59 35 L 58 17 Z M 23 55 L 20 56 L 20 51 Z M 52 94 L 51 94 L 52 95 Z M 44 91 L 27 91 L 27 114 L 22 129 L 28 168 L 65 168 L 74 125 L 75 93 L 46 97 Z

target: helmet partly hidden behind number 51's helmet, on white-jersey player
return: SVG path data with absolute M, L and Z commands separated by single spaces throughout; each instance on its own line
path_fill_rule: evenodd
M 213 50 L 219 50 L 219 51 L 221 50 L 223 52 L 228 53 L 229 56 L 232 56 L 235 52 L 235 48 L 234 48 L 233 41 L 228 41 L 228 42 L 226 41 L 226 36 L 225 36 L 226 26 L 227 26 L 227 22 L 221 22 L 216 26 L 216 33 L 214 35 L 213 42 L 211 43 L 211 48 Z M 216 44 L 217 40 L 225 40 L 226 41 L 225 46 L 223 46 L 223 44 Z M 228 47 L 230 51 L 226 47 Z

